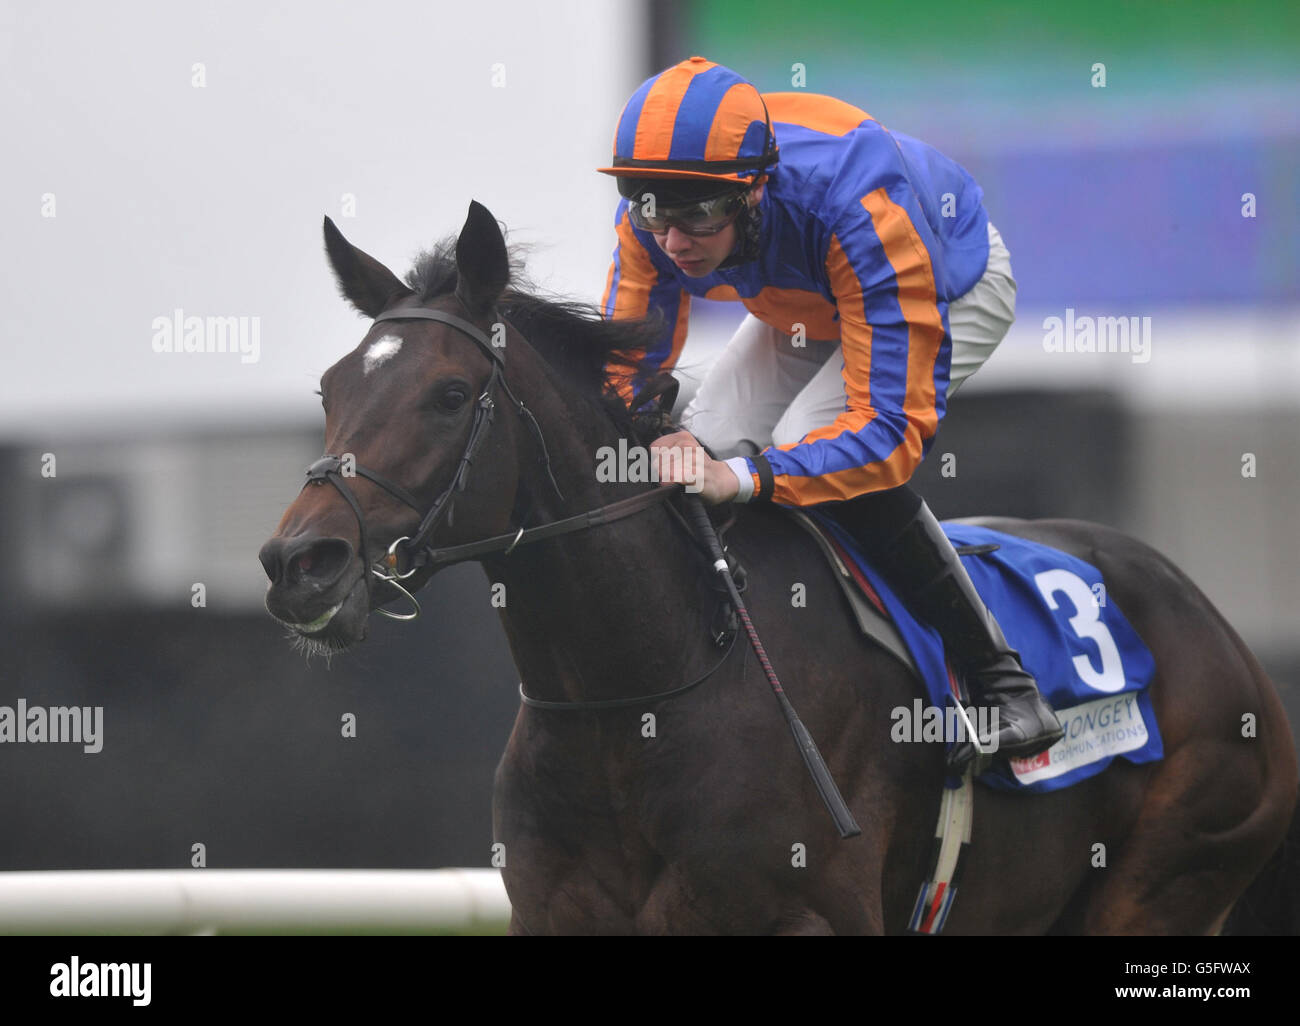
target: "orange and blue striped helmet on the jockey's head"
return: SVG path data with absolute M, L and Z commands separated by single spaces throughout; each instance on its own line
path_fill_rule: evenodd
M 754 185 L 777 161 L 776 137 L 758 90 L 720 64 L 690 57 L 641 83 L 619 117 L 619 178 Z

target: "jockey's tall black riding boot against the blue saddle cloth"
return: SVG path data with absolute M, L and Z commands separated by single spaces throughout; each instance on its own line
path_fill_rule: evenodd
M 915 498 L 919 507 L 892 540 L 880 545 L 879 528 L 862 538 L 874 566 L 907 607 L 939 631 L 972 701 L 997 710 L 996 754 L 1026 758 L 1045 752 L 1065 736 L 1056 714 L 1020 666 L 1019 653 L 1008 644 L 935 515 Z M 862 523 L 861 512 L 836 519 L 849 521 L 850 529 Z M 974 754 L 974 745 L 958 744 L 949 765 L 957 769 Z

